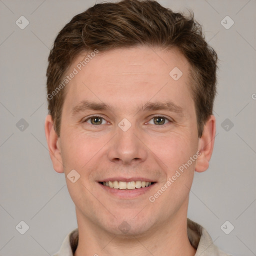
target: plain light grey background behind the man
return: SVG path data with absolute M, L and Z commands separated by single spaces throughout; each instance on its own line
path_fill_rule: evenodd
M 53 170 L 44 135 L 45 71 L 57 32 L 94 2 L 0 0 L 1 256 L 53 254 L 76 227 L 64 174 Z M 191 8 L 219 57 L 215 147 L 208 170 L 195 173 L 188 217 L 222 250 L 256 255 L 256 1 L 159 2 Z M 15 24 L 21 15 L 29 21 L 24 29 Z M 229 29 L 220 23 L 226 15 L 234 21 Z M 28 123 L 23 131 L 21 118 Z M 29 226 L 23 235 L 15 229 L 21 220 Z M 226 220 L 234 226 L 229 234 L 220 229 Z

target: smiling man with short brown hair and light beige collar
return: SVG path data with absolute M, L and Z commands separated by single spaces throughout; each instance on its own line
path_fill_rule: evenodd
M 45 134 L 78 229 L 59 256 L 227 255 L 187 219 L 215 136 L 214 50 L 156 1 L 99 3 L 57 35 Z

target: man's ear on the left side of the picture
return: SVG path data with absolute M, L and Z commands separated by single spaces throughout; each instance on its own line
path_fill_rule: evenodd
M 50 114 L 45 118 L 44 130 L 53 168 L 56 172 L 64 172 L 59 146 L 60 138 L 55 132 L 53 120 Z

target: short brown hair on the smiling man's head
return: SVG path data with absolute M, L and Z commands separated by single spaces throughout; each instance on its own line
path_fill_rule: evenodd
M 217 55 L 206 43 L 193 14 L 185 17 L 154 0 L 97 3 L 75 15 L 58 33 L 50 50 L 47 95 L 61 82 L 81 52 L 136 45 L 178 48 L 186 57 L 190 64 L 189 88 L 195 104 L 198 137 L 201 137 L 216 94 Z M 61 89 L 54 97 L 47 97 L 48 112 L 58 136 L 64 91 Z

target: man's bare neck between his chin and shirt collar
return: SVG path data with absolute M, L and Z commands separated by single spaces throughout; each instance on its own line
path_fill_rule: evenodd
M 165 221 L 146 233 L 119 236 L 92 223 L 76 209 L 79 228 L 78 246 L 74 256 L 193 256 L 196 250 L 188 240 L 186 211 L 185 214 L 179 213 L 168 222 Z

